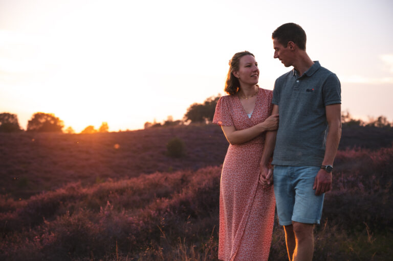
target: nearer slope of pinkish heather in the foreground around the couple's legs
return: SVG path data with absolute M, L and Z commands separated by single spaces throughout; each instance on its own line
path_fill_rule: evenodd
M 340 151 L 315 261 L 393 255 L 393 148 Z M 221 167 L 0 198 L 1 260 L 217 260 Z M 270 260 L 286 260 L 274 226 Z

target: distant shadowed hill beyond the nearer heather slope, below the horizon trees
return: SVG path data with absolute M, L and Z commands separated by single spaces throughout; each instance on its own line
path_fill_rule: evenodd
M 184 140 L 172 158 L 166 144 Z M 340 149 L 390 147 L 391 128 L 344 126 Z M 27 198 L 69 182 L 100 183 L 154 172 L 221 165 L 228 141 L 216 125 L 189 125 L 95 134 L 0 133 L 0 194 Z

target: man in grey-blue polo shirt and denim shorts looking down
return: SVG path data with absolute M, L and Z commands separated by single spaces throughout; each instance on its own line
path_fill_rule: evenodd
M 271 184 L 267 166 L 274 148 L 274 193 L 289 260 L 312 260 L 313 228 L 320 222 L 324 193 L 332 187 L 341 136 L 341 87 L 335 74 L 307 55 L 299 25 L 278 27 L 272 39 L 274 58 L 293 69 L 274 85 L 272 113 L 279 113 L 279 127 L 266 134 L 260 181 Z

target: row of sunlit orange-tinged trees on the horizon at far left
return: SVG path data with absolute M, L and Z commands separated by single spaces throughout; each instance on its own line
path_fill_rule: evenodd
M 36 112 L 33 114 L 27 124 L 28 132 L 63 132 L 64 123 L 59 117 L 53 113 Z M 86 127 L 81 133 L 108 132 L 109 127 L 106 122 L 96 130 L 94 126 Z M 18 116 L 9 112 L 0 113 L 0 132 L 20 132 L 24 131 L 20 128 Z M 72 127 L 68 127 L 65 133 L 75 133 Z

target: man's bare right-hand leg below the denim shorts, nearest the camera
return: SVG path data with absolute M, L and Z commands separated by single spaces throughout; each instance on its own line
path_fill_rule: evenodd
M 295 221 L 292 224 L 296 248 L 291 261 L 311 261 L 314 252 L 314 225 Z

